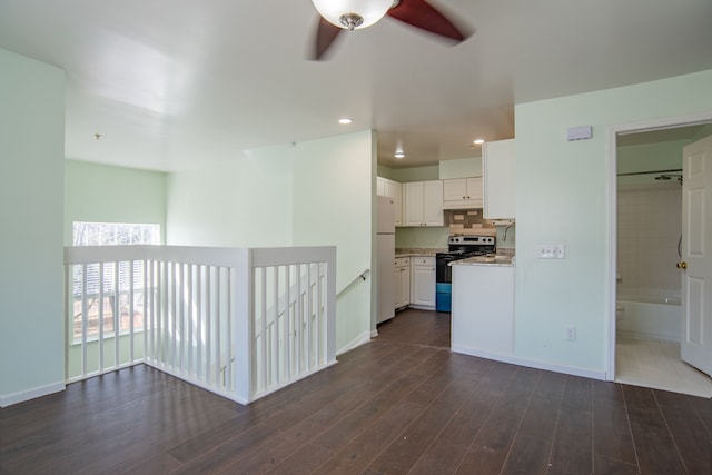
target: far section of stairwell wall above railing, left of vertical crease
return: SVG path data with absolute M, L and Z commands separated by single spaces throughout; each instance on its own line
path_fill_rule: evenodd
M 290 246 L 293 161 L 294 146 L 285 145 L 171 174 L 167 244 Z

